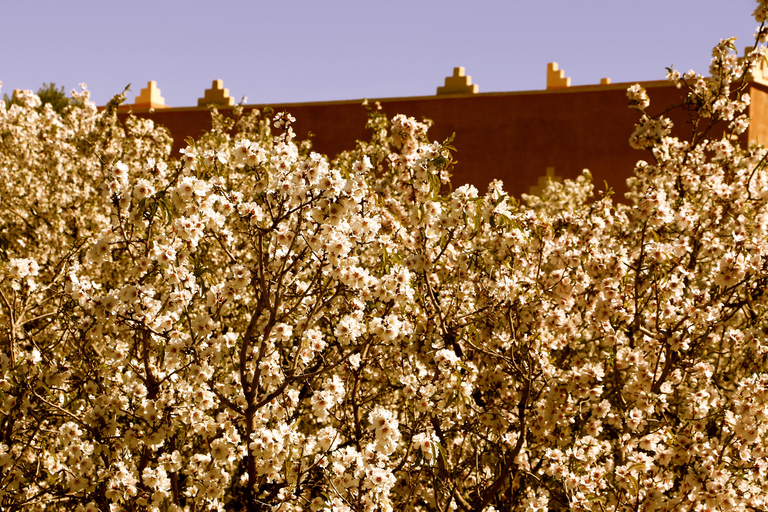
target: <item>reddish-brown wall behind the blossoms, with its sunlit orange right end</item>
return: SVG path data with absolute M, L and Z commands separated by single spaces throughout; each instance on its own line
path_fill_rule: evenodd
M 402 113 L 432 119 L 430 137 L 434 140 L 441 141 L 456 133 L 458 164 L 454 186 L 471 182 L 484 191 L 491 180 L 501 179 L 508 191 L 519 195 L 528 193 L 548 167 L 554 167 L 554 174 L 563 178 L 574 178 L 587 168 L 599 189 L 608 183 L 617 194 L 623 194 L 625 180 L 637 160 L 651 159 L 649 153 L 633 150 L 628 143 L 639 117 L 637 111 L 627 107 L 625 91 L 629 85 L 378 101 L 390 117 Z M 651 98 L 651 114 L 679 104 L 683 96 L 683 91 L 667 82 L 644 85 Z M 765 141 L 768 126 L 763 120 L 768 119 L 768 88 L 755 85 L 752 89 L 753 118 L 759 119 L 753 120 L 750 136 Z M 297 118 L 294 129 L 298 136 L 314 134 L 314 148 L 321 153 L 335 155 L 368 136 L 362 100 L 270 106 L 292 113 Z M 174 136 L 175 151 L 184 145 L 185 138 L 199 136 L 210 128 L 207 108 L 134 113 L 168 127 Z M 675 133 L 690 133 L 685 112 L 678 109 L 670 115 L 676 125 Z

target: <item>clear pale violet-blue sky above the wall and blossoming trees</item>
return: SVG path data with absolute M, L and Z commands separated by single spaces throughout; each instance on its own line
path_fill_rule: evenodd
M 751 44 L 754 0 L 0 0 L 2 92 L 84 82 L 104 104 L 155 80 L 192 106 L 222 79 L 248 103 L 435 94 L 455 66 L 480 92 L 706 74 Z

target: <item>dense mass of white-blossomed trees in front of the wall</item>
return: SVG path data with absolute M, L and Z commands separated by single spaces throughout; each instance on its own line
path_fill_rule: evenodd
M 330 161 L 286 113 L 175 159 L 120 97 L 0 104 L 0 508 L 767 509 L 761 55 L 670 72 L 687 140 L 628 91 L 629 204 L 451 190 L 373 108 Z

